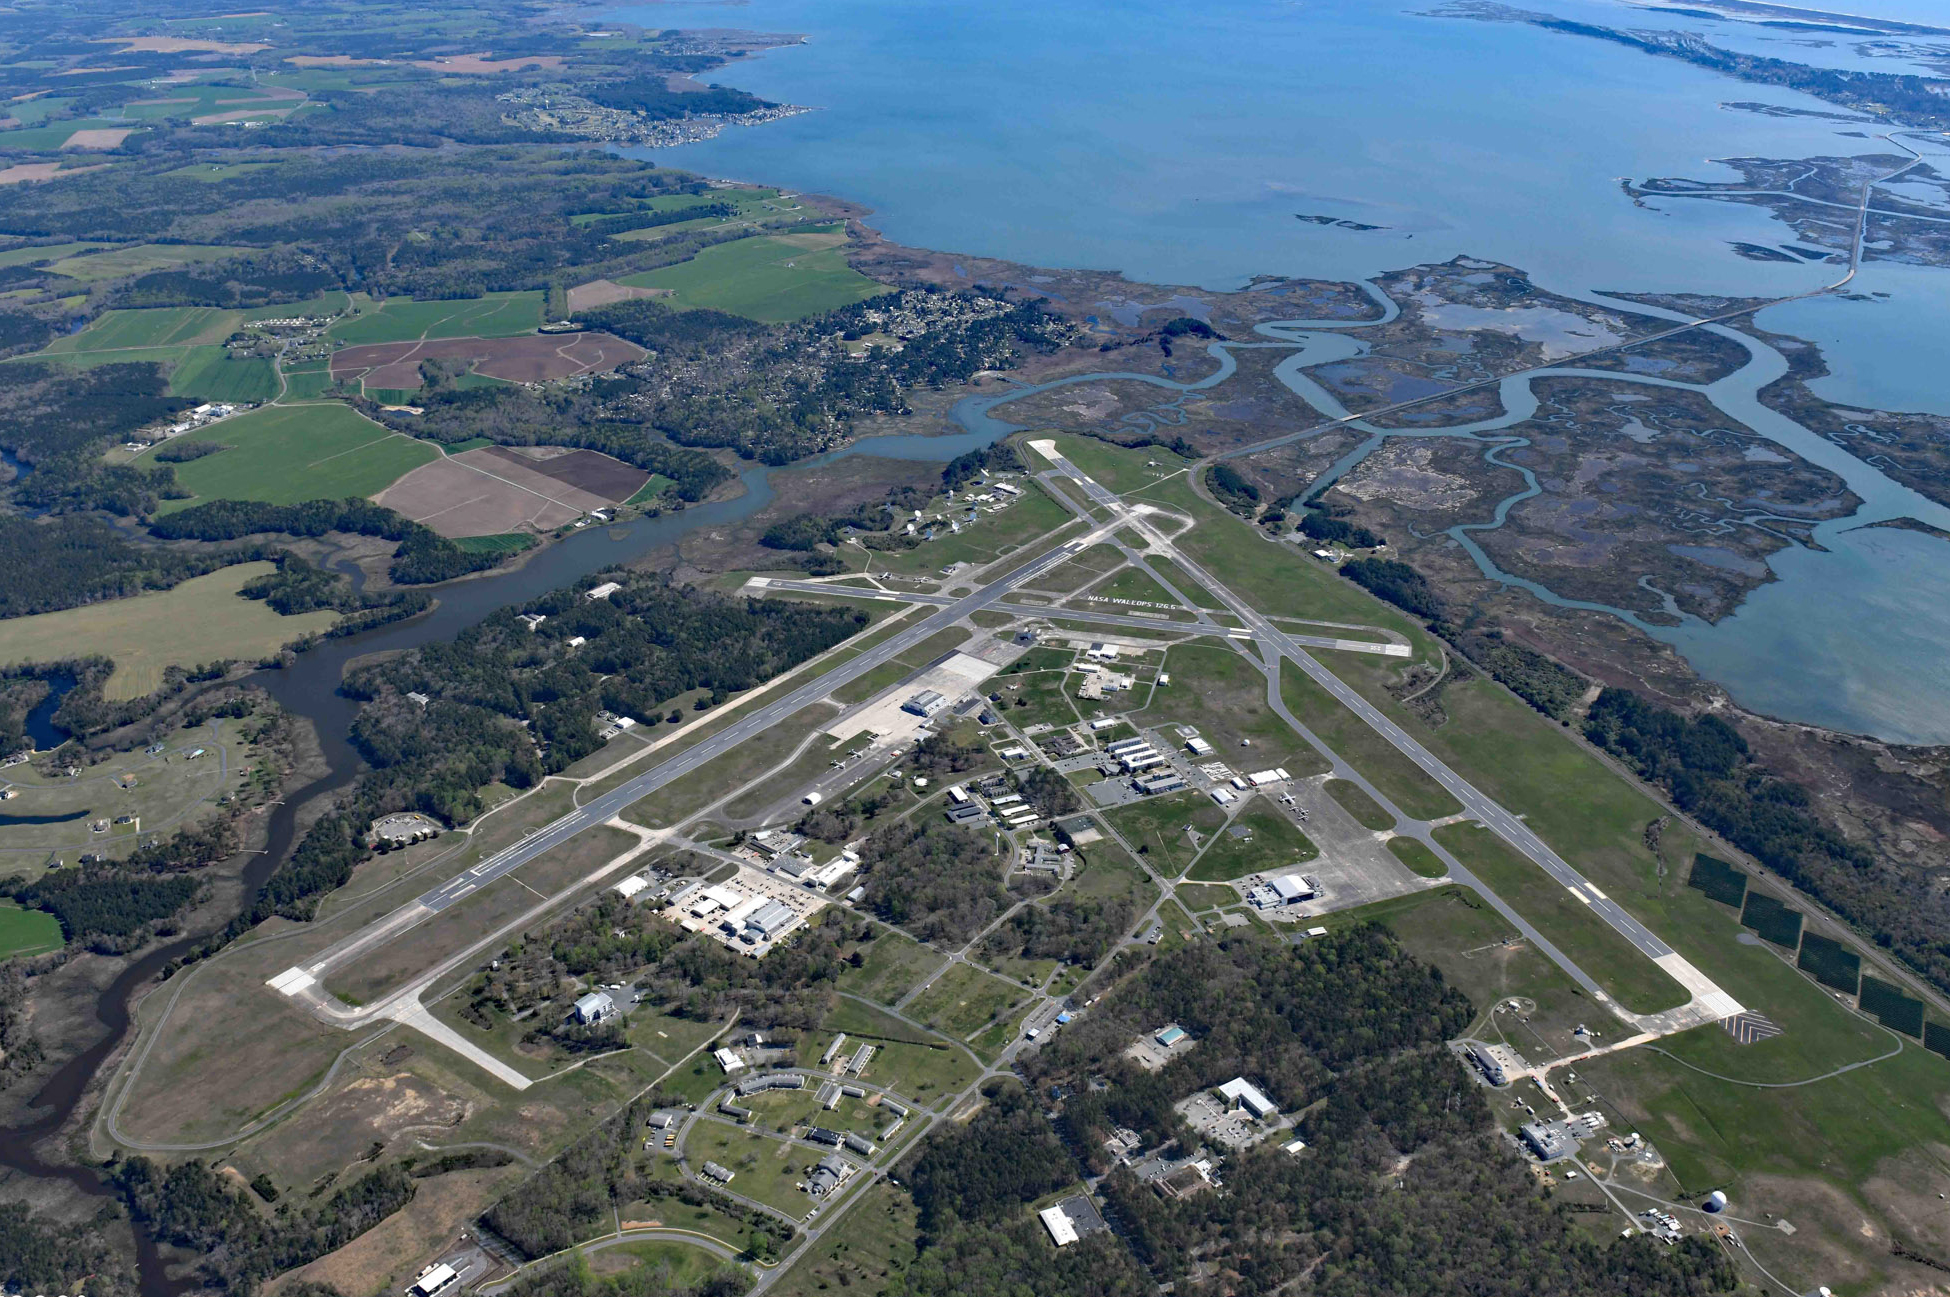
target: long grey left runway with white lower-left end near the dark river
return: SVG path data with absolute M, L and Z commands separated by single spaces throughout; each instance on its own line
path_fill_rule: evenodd
M 400 995 L 388 997 L 370 1006 L 351 1010 L 343 1004 L 332 1002 L 328 997 L 316 995 L 316 983 L 339 963 L 349 962 L 353 956 L 384 942 L 396 940 L 402 932 L 425 923 L 429 917 L 441 913 L 448 905 L 466 899 L 480 887 L 503 878 L 521 866 L 528 864 L 546 850 L 560 846 L 577 833 L 593 829 L 608 819 L 620 815 L 630 804 L 647 798 L 649 794 L 677 782 L 679 778 L 690 774 L 698 766 L 722 757 L 723 753 L 735 749 L 737 745 L 760 737 L 774 729 L 778 724 L 811 706 L 813 702 L 825 698 L 835 688 L 840 688 L 868 671 L 874 671 L 881 663 L 905 653 L 907 649 L 922 644 L 928 636 L 934 636 L 948 626 L 954 626 L 961 618 L 987 609 L 1000 601 L 1008 591 L 1035 579 L 1037 575 L 1049 571 L 1057 564 L 1071 560 L 1074 554 L 1096 544 L 1112 525 L 1096 527 L 1090 532 L 1067 540 L 1043 554 L 1037 554 L 1030 562 L 1006 571 L 989 585 L 983 585 L 971 595 L 954 599 L 942 605 L 940 612 L 909 626 L 907 630 L 895 634 L 889 640 L 866 649 L 864 653 L 833 667 L 831 671 L 815 677 L 811 683 L 784 694 L 782 698 L 768 702 L 753 712 L 747 712 L 731 726 L 720 729 L 716 735 L 692 745 L 690 749 L 671 757 L 669 761 L 657 765 L 644 774 L 638 774 L 624 784 L 618 784 L 610 792 L 575 807 L 562 819 L 530 833 L 521 843 L 507 846 L 488 860 L 482 860 L 474 868 L 439 884 L 437 887 L 421 893 L 417 899 L 402 905 L 400 909 L 384 915 L 359 932 L 353 932 L 345 940 L 333 944 L 332 948 L 320 952 L 312 960 L 271 979 L 271 985 L 285 995 L 306 995 L 312 1002 L 314 1012 L 322 1012 L 335 1026 L 359 1026 L 372 1018 L 384 1016 L 390 1006 L 400 1001 Z M 827 591 L 831 593 L 831 591 Z

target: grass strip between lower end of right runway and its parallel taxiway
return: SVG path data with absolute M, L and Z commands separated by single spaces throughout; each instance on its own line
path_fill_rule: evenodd
M 1435 839 L 1632 1012 L 1687 1002 L 1685 989 L 1509 843 L 1470 823 Z

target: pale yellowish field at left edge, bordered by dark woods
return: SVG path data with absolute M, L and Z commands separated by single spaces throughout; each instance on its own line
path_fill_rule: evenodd
M 113 702 L 162 685 L 164 667 L 257 661 L 339 620 L 337 612 L 279 616 L 257 599 L 238 597 L 246 581 L 267 571 L 271 564 L 238 564 L 135 599 L 8 618 L 0 622 L 0 665 L 62 661 L 82 644 L 115 663 L 103 690 Z

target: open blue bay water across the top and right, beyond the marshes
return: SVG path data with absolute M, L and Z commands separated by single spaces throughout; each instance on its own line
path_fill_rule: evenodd
M 1761 209 L 1634 205 L 1618 179 L 1737 179 L 1716 158 L 1895 152 L 1860 127 L 1726 109 L 1759 101 L 1833 111 L 1601 41 L 1418 16 L 1396 0 L 1026 4 L 1024 0 L 681 0 L 614 10 L 653 27 L 796 31 L 714 74 L 817 111 L 657 150 L 712 176 L 833 193 L 889 238 L 1030 265 L 1117 269 L 1147 285 L 1232 289 L 1254 275 L 1365 279 L 1455 255 L 1523 267 L 1546 289 L 1784 296 L 1827 265 L 1755 263 L 1734 242 L 1796 234 Z M 1539 8 L 1544 8 L 1539 4 Z M 1702 31 L 1827 66 L 1911 70 L 1851 39 L 1562 0 L 1566 18 Z M 1929 21 L 1929 0 L 1864 0 Z M 1905 12 L 1909 10 L 1909 12 Z M 1297 215 L 1388 226 L 1355 232 Z M 1819 341 L 1837 402 L 1950 410 L 1942 271 L 1870 263 L 1852 289 L 1888 298 L 1774 308 L 1763 324 Z M 1156 291 L 1141 291 L 1166 296 Z M 1094 304 L 1092 304 L 1094 306 Z M 1110 310 L 1104 304 L 1104 310 Z M 1310 396 L 1301 365 L 1283 365 Z M 1716 400 L 1739 406 L 1741 392 Z M 993 435 L 1006 400 L 971 431 Z M 1728 406 L 1724 406 L 1728 408 Z M 1759 427 L 1747 400 L 1737 417 Z M 1763 429 L 1765 431 L 1765 429 Z M 1827 443 L 1765 435 L 1829 462 Z M 1814 452 L 1808 452 L 1808 451 Z M 1909 493 L 1847 460 L 1870 507 Z M 1490 523 L 1492 519 L 1482 519 Z M 1913 532 L 1825 529 L 1829 554 L 1788 550 L 1780 577 L 1718 626 L 1659 630 L 1737 700 L 1778 716 L 1903 741 L 1950 741 L 1950 546 Z M 1548 591 L 1540 591 L 1548 597 Z M 1907 609 L 1903 634 L 1888 634 Z

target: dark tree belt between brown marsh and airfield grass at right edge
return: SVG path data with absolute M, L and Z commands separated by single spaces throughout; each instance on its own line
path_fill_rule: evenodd
M 1761 766 L 1730 724 L 1605 688 L 1583 731 L 1681 811 L 1950 991 L 1950 946 L 1942 940 L 1950 899 L 1927 876 L 1895 868 L 1823 823 L 1808 790 Z

